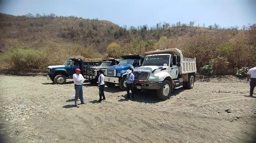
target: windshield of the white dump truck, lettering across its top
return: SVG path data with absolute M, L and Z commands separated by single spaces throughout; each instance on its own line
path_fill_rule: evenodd
M 163 66 L 166 63 L 169 65 L 169 55 L 155 55 L 146 57 L 142 66 Z

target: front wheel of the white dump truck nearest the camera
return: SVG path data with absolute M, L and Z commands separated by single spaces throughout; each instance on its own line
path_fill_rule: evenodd
M 171 95 L 171 83 L 167 80 L 163 81 L 160 89 L 157 89 L 157 96 L 159 99 L 166 100 Z

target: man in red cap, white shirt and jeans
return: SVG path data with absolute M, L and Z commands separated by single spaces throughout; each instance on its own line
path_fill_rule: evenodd
M 83 78 L 83 75 L 80 74 L 81 70 L 79 68 L 75 69 L 75 74 L 73 74 L 73 81 L 75 84 L 75 107 L 78 107 L 78 96 L 80 95 L 81 104 L 85 104 L 85 101 L 83 100 L 83 82 L 85 81 L 85 78 Z

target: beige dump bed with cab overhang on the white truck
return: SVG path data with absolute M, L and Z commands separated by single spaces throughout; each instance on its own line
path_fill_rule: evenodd
M 173 54 L 180 55 L 180 64 L 179 74 L 188 74 L 188 73 L 196 73 L 196 58 L 183 58 L 181 50 L 177 48 L 169 48 L 164 50 L 156 50 L 145 52 L 146 55 L 153 54 Z

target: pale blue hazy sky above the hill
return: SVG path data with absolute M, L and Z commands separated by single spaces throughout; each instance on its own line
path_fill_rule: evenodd
M 221 27 L 256 23 L 256 0 L 0 0 L 0 12 L 98 18 L 135 26 L 180 21 Z

